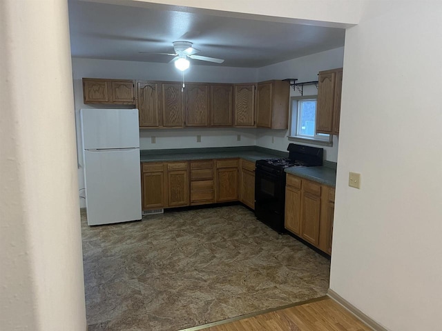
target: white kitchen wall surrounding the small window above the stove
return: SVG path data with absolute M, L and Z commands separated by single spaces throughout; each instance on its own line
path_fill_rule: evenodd
M 318 72 L 321 70 L 329 70 L 334 68 L 341 68 L 343 66 L 344 48 L 336 48 L 334 50 L 327 50 L 307 57 L 300 57 L 298 59 L 291 59 L 281 63 L 276 63 L 271 66 L 266 66 L 258 69 L 258 81 L 266 81 L 268 79 L 286 79 L 297 78 L 298 82 L 302 81 L 317 81 Z M 303 95 L 317 95 L 318 90 L 315 86 L 305 86 Z M 290 89 L 290 97 L 300 96 L 298 90 Z M 260 129 L 256 131 L 256 145 L 273 150 L 287 151 L 289 143 L 298 143 L 289 141 L 287 138 L 289 130 L 265 130 Z M 302 145 L 315 146 L 307 143 Z M 318 146 L 316 146 L 318 147 Z M 322 146 L 321 146 L 322 147 Z M 332 147 L 323 147 L 325 159 L 336 162 L 338 159 L 338 137 L 333 138 Z

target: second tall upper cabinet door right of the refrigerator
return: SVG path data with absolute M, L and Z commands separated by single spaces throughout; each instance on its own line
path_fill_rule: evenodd
M 184 124 L 182 114 L 181 84 L 162 84 L 162 113 L 163 126 L 182 127 Z

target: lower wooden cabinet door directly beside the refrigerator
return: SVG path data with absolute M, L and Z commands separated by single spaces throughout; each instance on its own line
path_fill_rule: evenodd
M 143 209 L 166 207 L 164 172 L 143 173 Z

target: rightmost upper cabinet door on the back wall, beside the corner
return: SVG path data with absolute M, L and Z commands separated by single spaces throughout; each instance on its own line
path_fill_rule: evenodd
M 235 86 L 235 126 L 255 126 L 255 86 Z

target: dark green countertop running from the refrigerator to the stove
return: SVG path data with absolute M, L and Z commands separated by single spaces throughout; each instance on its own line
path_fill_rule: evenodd
M 241 158 L 256 162 L 261 159 L 287 157 L 287 152 L 269 150 L 267 148 L 238 147 L 238 148 L 189 148 L 184 150 L 142 150 L 142 162 L 191 161 L 205 159 L 234 159 Z

